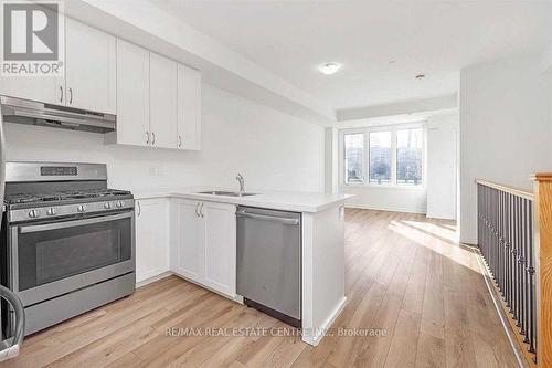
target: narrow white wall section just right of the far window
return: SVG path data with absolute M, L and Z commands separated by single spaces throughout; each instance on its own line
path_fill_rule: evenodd
M 427 119 L 427 217 L 456 219 L 458 115 Z

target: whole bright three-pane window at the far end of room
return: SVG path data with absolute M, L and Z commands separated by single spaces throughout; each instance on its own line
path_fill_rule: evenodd
M 341 180 L 346 185 L 422 186 L 424 135 L 421 124 L 343 130 Z

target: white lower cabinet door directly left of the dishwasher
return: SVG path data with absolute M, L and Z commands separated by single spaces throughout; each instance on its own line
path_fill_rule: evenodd
M 235 206 L 205 202 L 205 285 L 223 294 L 236 295 Z

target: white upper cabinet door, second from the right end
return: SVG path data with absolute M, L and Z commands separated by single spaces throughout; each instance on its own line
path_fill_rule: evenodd
M 177 62 L 150 53 L 149 69 L 151 145 L 177 148 Z

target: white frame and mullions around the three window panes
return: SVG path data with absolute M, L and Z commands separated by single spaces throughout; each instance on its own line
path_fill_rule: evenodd
M 404 129 L 422 129 L 422 183 L 404 185 L 396 182 L 396 164 L 397 164 L 397 130 Z M 372 132 L 391 132 L 391 182 L 389 183 L 375 183 L 370 182 L 370 133 Z M 346 165 L 344 165 L 344 136 L 348 134 L 363 134 L 364 135 L 364 155 L 362 157 L 362 169 L 364 172 L 364 182 L 346 182 Z M 344 128 L 339 130 L 339 182 L 344 187 L 371 187 L 371 188 L 391 188 L 391 189 L 404 189 L 404 190 L 424 190 L 426 187 L 426 151 L 427 151 L 427 130 L 425 122 L 405 123 L 405 124 L 391 124 L 391 125 L 376 125 L 363 128 Z

